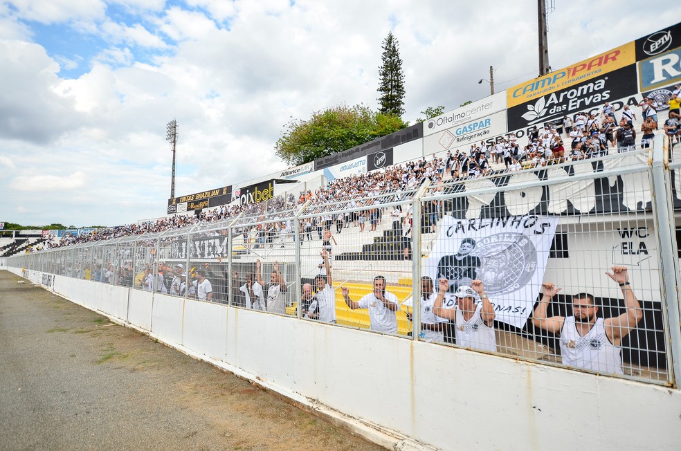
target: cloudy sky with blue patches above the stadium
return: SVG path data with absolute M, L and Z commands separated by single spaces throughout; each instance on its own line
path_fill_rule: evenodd
M 561 68 L 675 24 L 675 1 L 555 1 Z M 291 118 L 377 108 L 392 30 L 406 115 L 447 110 L 538 74 L 536 1 L 2 0 L 0 222 L 112 226 L 161 217 L 175 194 L 286 167 Z

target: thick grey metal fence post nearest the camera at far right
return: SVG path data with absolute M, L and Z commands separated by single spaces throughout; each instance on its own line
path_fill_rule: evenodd
M 669 205 L 669 195 L 671 193 L 671 180 L 668 170 L 669 138 L 666 136 L 656 136 L 653 148 L 653 220 L 657 229 L 658 247 L 660 248 L 660 286 L 662 287 L 662 302 L 666 304 L 666 309 L 662 307 L 664 315 L 665 333 L 667 342 L 667 371 L 669 372 L 669 382 L 677 385 L 676 377 L 681 374 L 681 324 L 679 315 L 678 298 L 678 269 L 675 265 L 675 246 L 671 230 L 674 228 L 673 208 Z

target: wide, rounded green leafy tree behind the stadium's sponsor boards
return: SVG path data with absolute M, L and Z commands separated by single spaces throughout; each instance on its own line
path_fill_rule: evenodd
M 275 144 L 276 154 L 289 165 L 302 165 L 364 144 L 407 127 L 400 118 L 376 113 L 362 104 L 339 105 L 292 119 Z

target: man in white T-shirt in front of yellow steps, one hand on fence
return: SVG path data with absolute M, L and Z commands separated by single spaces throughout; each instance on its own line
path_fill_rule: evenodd
M 354 302 L 349 297 L 349 290 L 341 288 L 345 304 L 350 309 L 369 309 L 369 323 L 372 331 L 397 333 L 397 315 L 399 309 L 397 296 L 385 291 L 385 277 L 374 277 L 374 289 L 364 295 L 361 300 Z

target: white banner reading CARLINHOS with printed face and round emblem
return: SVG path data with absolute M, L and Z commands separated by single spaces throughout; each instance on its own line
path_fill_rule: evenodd
M 522 328 L 539 295 L 558 220 L 534 215 L 444 217 L 424 275 L 433 278 L 435 287 L 445 277 L 451 290 L 482 280 L 495 319 Z

